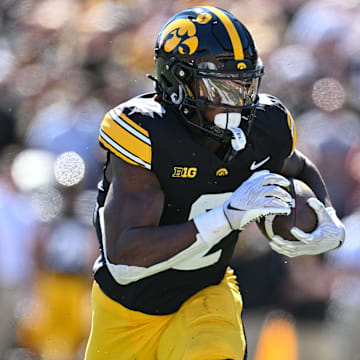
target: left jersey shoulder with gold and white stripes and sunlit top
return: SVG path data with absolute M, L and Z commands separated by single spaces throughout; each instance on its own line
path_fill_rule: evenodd
M 139 96 L 106 113 L 100 128 L 100 144 L 127 163 L 151 169 L 151 138 L 147 121 L 165 113 L 153 97 Z

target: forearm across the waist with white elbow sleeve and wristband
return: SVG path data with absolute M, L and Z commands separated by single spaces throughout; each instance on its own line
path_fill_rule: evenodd
M 103 214 L 104 209 L 99 209 L 102 231 Z M 103 234 L 104 255 L 114 279 L 127 285 L 170 268 L 190 270 L 214 264 L 221 251 L 207 254 L 229 233 L 231 228 L 223 207 L 218 206 L 182 225 L 128 227 L 118 241 L 110 240 L 110 246 Z M 108 252 L 116 258 L 109 260 Z

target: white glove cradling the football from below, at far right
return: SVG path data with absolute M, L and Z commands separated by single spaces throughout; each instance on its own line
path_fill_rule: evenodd
M 269 242 L 270 247 L 279 254 L 288 257 L 301 255 L 318 255 L 340 247 L 345 240 L 345 228 L 337 217 L 335 209 L 325 207 L 316 198 L 310 198 L 308 204 L 314 209 L 318 218 L 318 226 L 312 233 L 305 233 L 293 227 L 291 234 L 299 241 L 288 241 L 274 235 Z

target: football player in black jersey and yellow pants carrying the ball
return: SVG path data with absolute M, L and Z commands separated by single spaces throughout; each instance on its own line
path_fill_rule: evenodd
M 259 94 L 263 65 L 229 12 L 179 12 L 155 48 L 155 92 L 109 111 L 95 211 L 101 256 L 87 360 L 245 359 L 242 300 L 229 262 L 239 231 L 289 214 L 286 177 L 318 199 L 312 234 L 275 237 L 288 256 L 341 245 L 344 229 L 315 166 L 295 149 L 290 112 Z

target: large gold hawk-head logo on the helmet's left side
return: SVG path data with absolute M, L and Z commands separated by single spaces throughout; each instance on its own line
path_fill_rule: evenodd
M 184 54 L 193 54 L 198 48 L 198 38 L 195 36 L 196 26 L 195 24 L 186 19 L 178 19 L 171 22 L 163 31 L 159 45 L 163 42 L 164 50 L 171 52 L 177 48 L 177 51 Z M 171 35 L 170 38 L 169 35 Z

